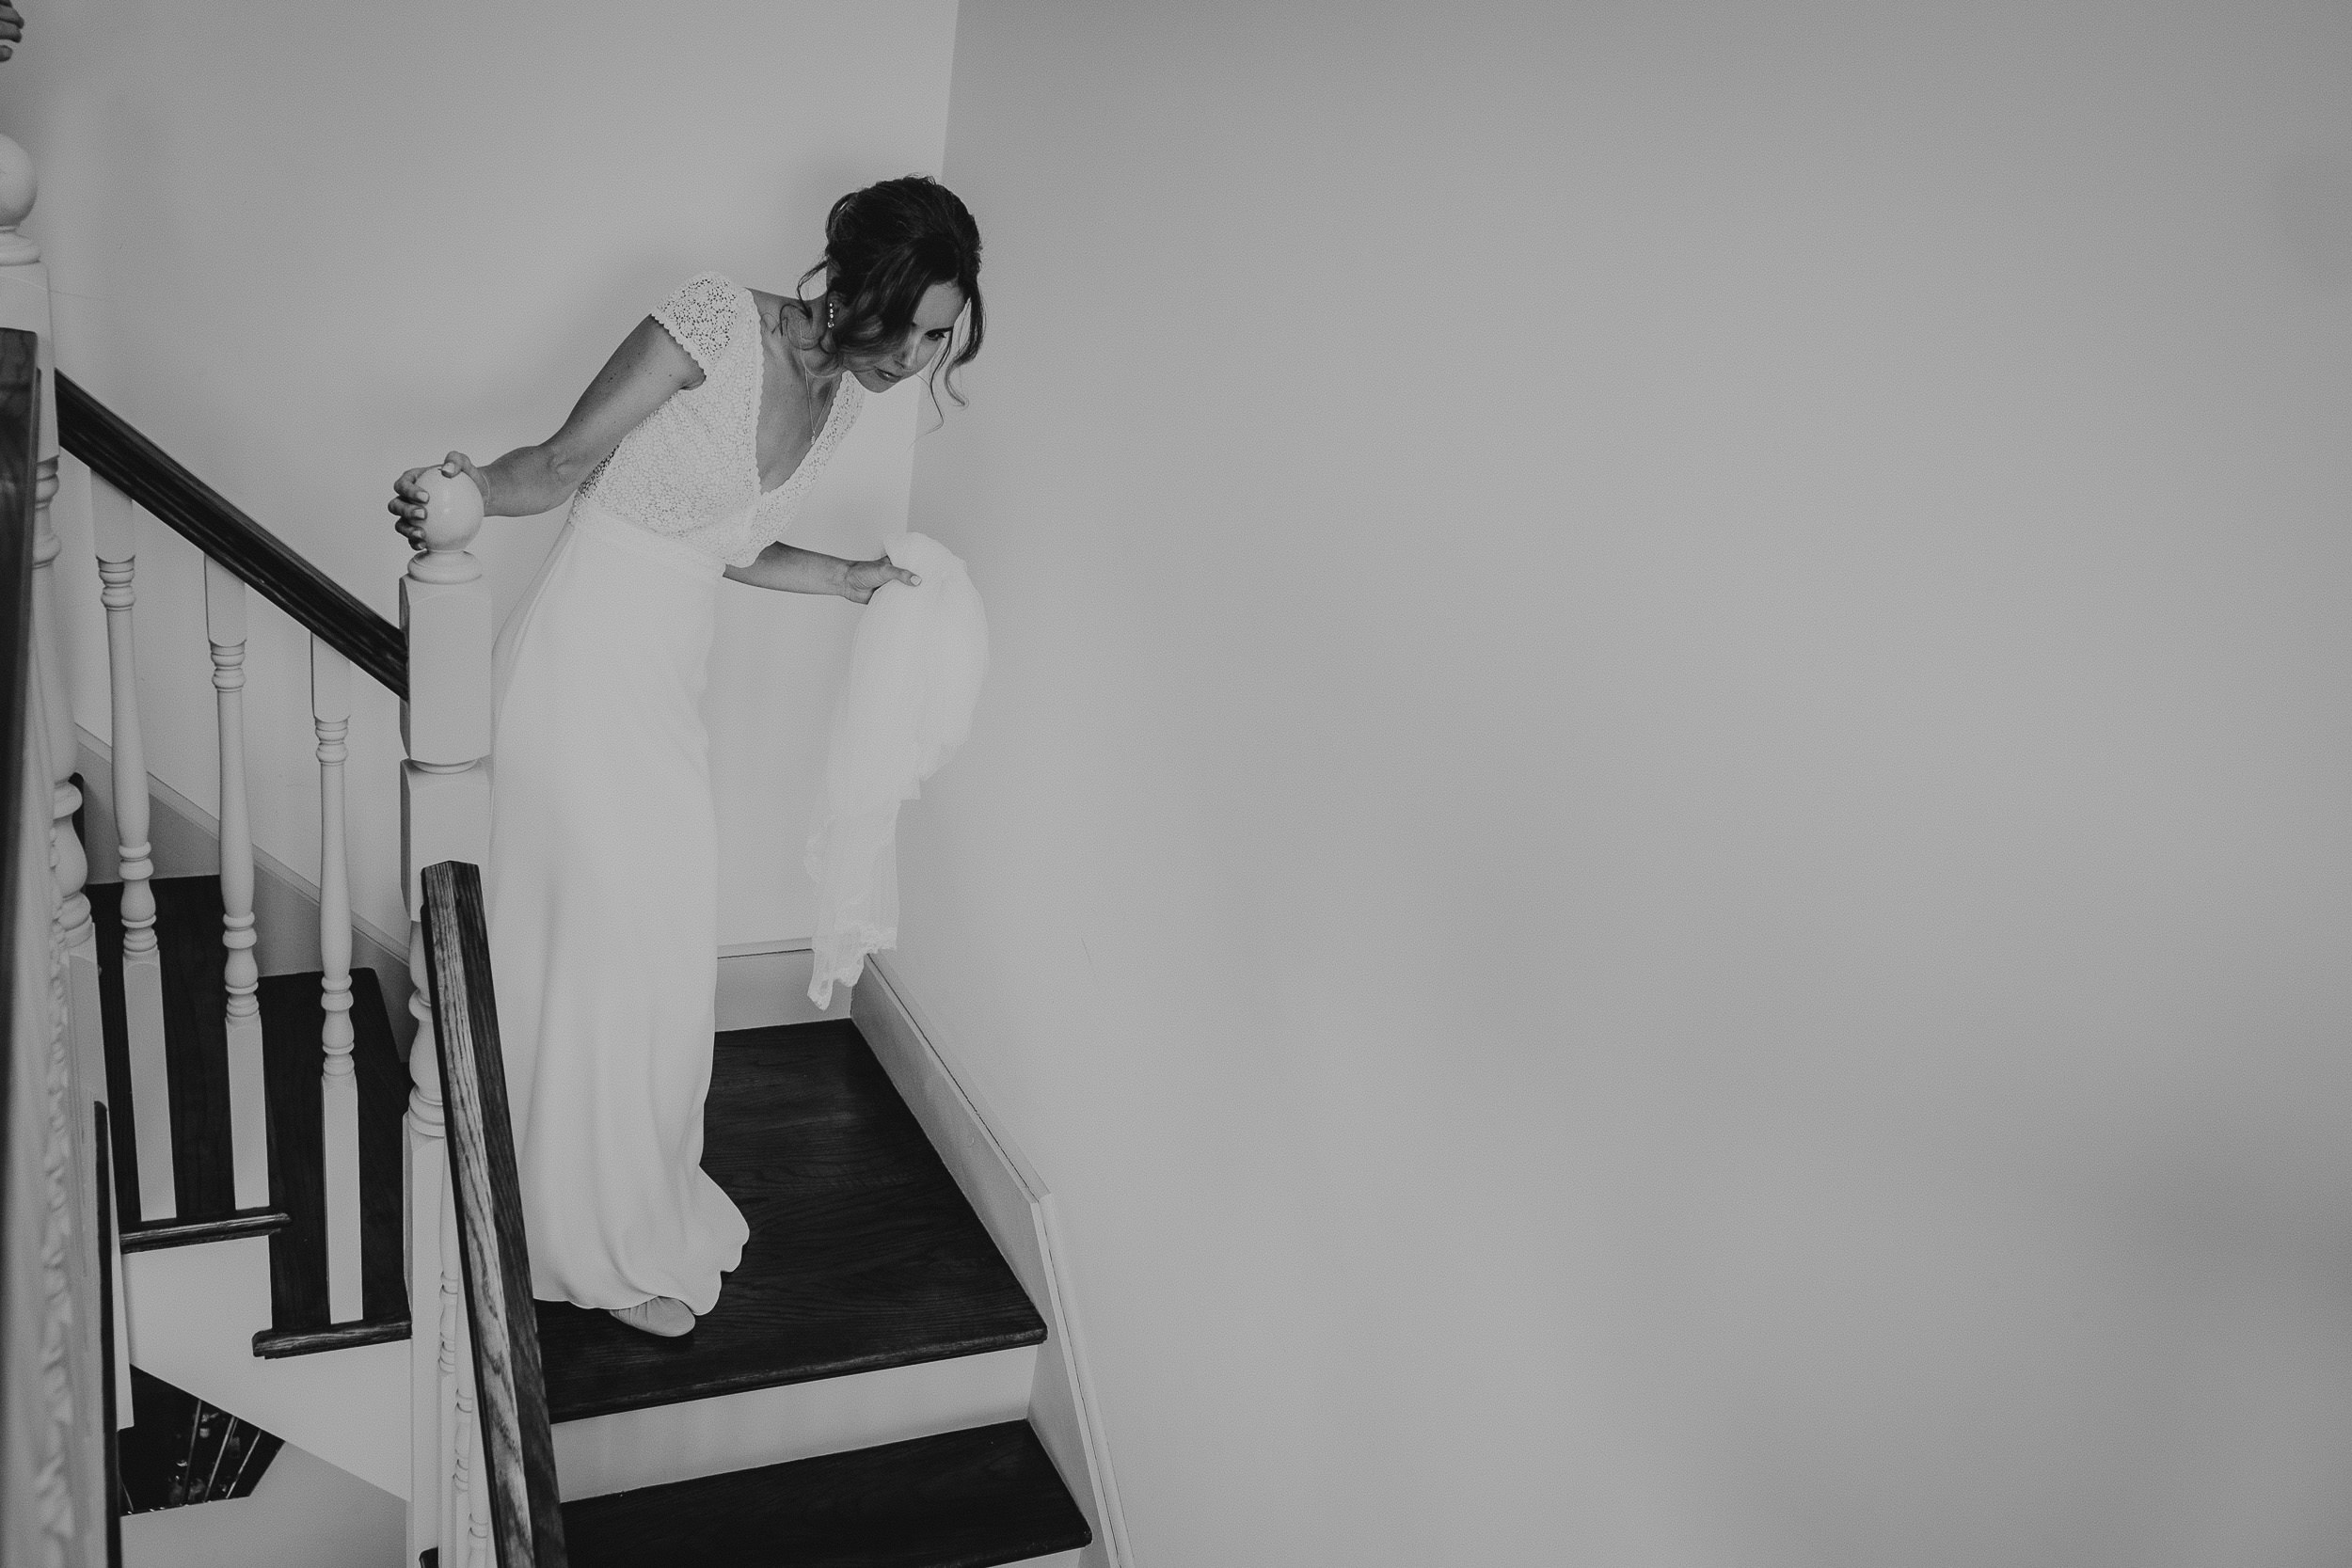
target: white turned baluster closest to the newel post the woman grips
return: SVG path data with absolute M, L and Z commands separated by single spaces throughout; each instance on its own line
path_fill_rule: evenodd
M 350 867 L 343 844 L 343 762 L 350 748 L 350 661 L 310 639 L 310 722 L 318 724 L 320 1112 L 327 1159 L 327 1319 L 360 1312 L 360 1079 L 350 1063 Z

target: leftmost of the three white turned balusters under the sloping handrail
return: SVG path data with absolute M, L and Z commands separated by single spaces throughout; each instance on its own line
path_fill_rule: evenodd
M 132 1131 L 139 1145 L 139 1218 L 179 1213 L 172 1180 L 172 1079 L 162 1044 L 162 954 L 155 950 L 155 877 L 148 844 L 146 741 L 139 726 L 139 646 L 132 637 L 132 588 L 139 524 L 132 501 L 89 480 L 89 522 L 106 583 L 106 665 L 115 708 L 115 830 L 122 863 L 122 1020 L 132 1067 Z

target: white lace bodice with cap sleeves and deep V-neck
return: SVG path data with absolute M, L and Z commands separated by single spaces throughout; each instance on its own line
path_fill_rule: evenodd
M 826 428 L 793 477 L 760 491 L 760 310 L 750 289 L 701 273 L 654 310 L 680 348 L 703 367 L 703 383 L 673 393 L 581 484 L 581 498 L 675 538 L 703 555 L 748 567 L 783 538 L 793 515 L 858 418 L 866 388 L 842 376 Z

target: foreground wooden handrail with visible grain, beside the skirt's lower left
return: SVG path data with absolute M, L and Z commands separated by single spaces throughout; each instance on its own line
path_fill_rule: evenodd
M 555 1436 L 539 1373 L 532 1260 L 522 1241 L 522 1182 L 506 1112 L 499 1009 L 489 990 L 482 872 L 440 860 L 423 872 L 426 964 L 449 1128 L 449 1190 L 466 1265 L 466 1319 L 482 1413 L 475 1486 L 489 1488 L 499 1568 L 564 1568 Z

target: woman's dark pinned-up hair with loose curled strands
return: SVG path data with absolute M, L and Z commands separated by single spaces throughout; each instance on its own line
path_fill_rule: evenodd
M 931 362 L 934 390 L 981 353 L 988 315 L 981 310 L 981 226 L 953 190 L 929 174 L 884 179 L 851 190 L 826 214 L 826 259 L 800 275 L 802 287 L 826 273 L 826 292 L 837 301 L 833 353 L 866 355 L 887 348 L 915 324 L 915 306 L 936 282 L 953 282 L 971 303 L 971 331 L 950 357 Z M 953 346 L 953 339 L 950 339 Z

